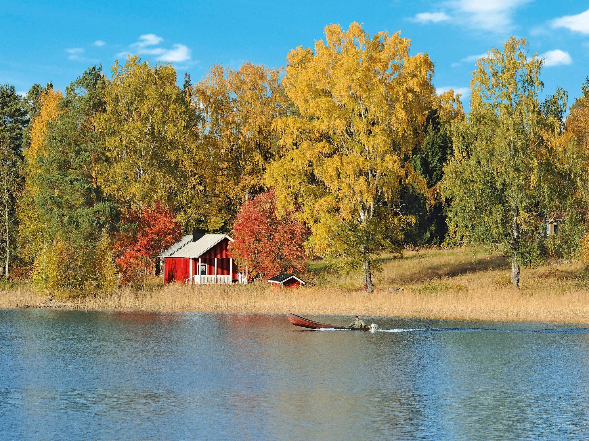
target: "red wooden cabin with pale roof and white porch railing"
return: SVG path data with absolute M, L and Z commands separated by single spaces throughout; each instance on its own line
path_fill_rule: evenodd
M 226 234 L 194 230 L 160 254 L 164 283 L 247 283 L 228 248 L 233 239 Z

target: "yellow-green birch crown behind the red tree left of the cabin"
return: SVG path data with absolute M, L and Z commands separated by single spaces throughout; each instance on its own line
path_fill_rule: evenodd
M 155 201 L 170 202 L 184 184 L 178 151 L 190 142 L 176 70 L 167 64 L 150 66 L 137 55 L 122 66 L 115 62 L 105 103 L 97 125 L 108 167 L 98 183 L 118 206 L 139 213 Z

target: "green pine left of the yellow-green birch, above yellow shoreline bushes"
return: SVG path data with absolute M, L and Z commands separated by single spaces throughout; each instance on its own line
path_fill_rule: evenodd
M 116 216 L 98 185 L 105 152 L 95 121 L 105 108 L 104 87 L 101 66 L 88 68 L 68 86 L 58 121 L 48 123 L 47 154 L 36 158 L 38 210 L 54 229 L 88 244 L 95 244 Z

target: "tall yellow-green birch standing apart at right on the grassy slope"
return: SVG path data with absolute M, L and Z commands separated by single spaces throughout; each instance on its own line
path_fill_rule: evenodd
M 454 129 L 454 156 L 444 171 L 442 195 L 451 198 L 449 234 L 486 245 L 519 268 L 540 259 L 544 216 L 551 212 L 553 149 L 538 95 L 542 59 L 527 57 L 525 40 L 509 38 L 479 59 L 471 80 L 471 112 Z

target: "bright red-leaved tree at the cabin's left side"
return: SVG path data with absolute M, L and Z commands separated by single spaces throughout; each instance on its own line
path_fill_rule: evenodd
M 123 228 L 115 234 L 114 250 L 123 282 L 150 273 L 157 255 L 182 237 L 176 215 L 160 202 L 143 209 L 141 215 L 127 211 L 121 223 Z

